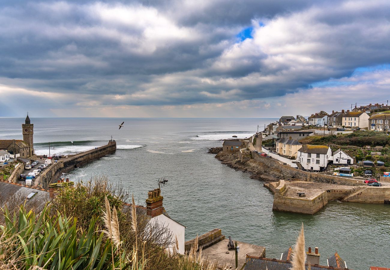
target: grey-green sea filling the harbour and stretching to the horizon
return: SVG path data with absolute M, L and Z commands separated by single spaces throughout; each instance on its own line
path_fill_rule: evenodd
M 272 211 L 273 194 L 248 173 L 222 165 L 207 151 L 223 139 L 250 137 L 268 118 L 34 118 L 38 155 L 73 154 L 117 141 L 117 151 L 67 176 L 88 181 L 106 176 L 145 205 L 158 179 L 170 217 L 191 240 L 215 228 L 233 240 L 266 247 L 280 259 L 301 225 L 306 247 L 319 247 L 320 263 L 337 252 L 350 269 L 390 267 L 390 205 L 330 202 L 315 215 Z M 119 124 L 124 126 L 119 130 Z M 22 139 L 24 118 L 0 118 L 0 139 Z

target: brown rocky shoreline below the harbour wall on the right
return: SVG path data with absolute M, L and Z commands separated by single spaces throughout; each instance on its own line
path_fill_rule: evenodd
M 250 159 L 247 162 L 241 162 L 241 159 L 236 154 L 223 153 L 222 147 L 215 147 L 209 149 L 211 154 L 216 154 L 215 158 L 222 164 L 229 166 L 232 169 L 250 173 L 250 178 L 261 181 L 275 181 L 284 179 L 283 174 L 275 167 L 268 167 L 267 165 Z

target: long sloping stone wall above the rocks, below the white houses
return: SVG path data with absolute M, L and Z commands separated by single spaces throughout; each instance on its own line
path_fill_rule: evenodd
M 268 167 L 277 168 L 282 173 L 284 179 L 286 180 L 290 178 L 294 178 L 294 179 L 300 179 L 301 181 L 312 181 L 312 182 L 322 182 L 322 183 L 351 185 L 351 186 L 357 186 L 362 184 L 361 182 L 356 181 L 354 179 L 336 177 L 336 176 L 325 175 L 325 174 L 317 174 L 317 173 L 302 171 L 300 169 L 295 169 L 288 165 L 280 164 L 277 160 L 273 160 L 272 158 L 266 158 L 256 153 L 252 153 L 252 158 L 254 158 L 254 160 L 258 162 L 267 165 Z

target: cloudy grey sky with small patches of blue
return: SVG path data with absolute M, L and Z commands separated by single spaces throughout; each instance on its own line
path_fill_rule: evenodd
M 280 117 L 386 103 L 389 21 L 388 0 L 2 0 L 0 117 Z

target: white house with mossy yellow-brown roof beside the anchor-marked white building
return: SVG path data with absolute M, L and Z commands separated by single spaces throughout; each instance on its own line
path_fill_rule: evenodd
M 298 161 L 301 166 L 310 171 L 321 171 L 328 166 L 328 158 L 332 156 L 329 146 L 304 144 L 298 150 Z

